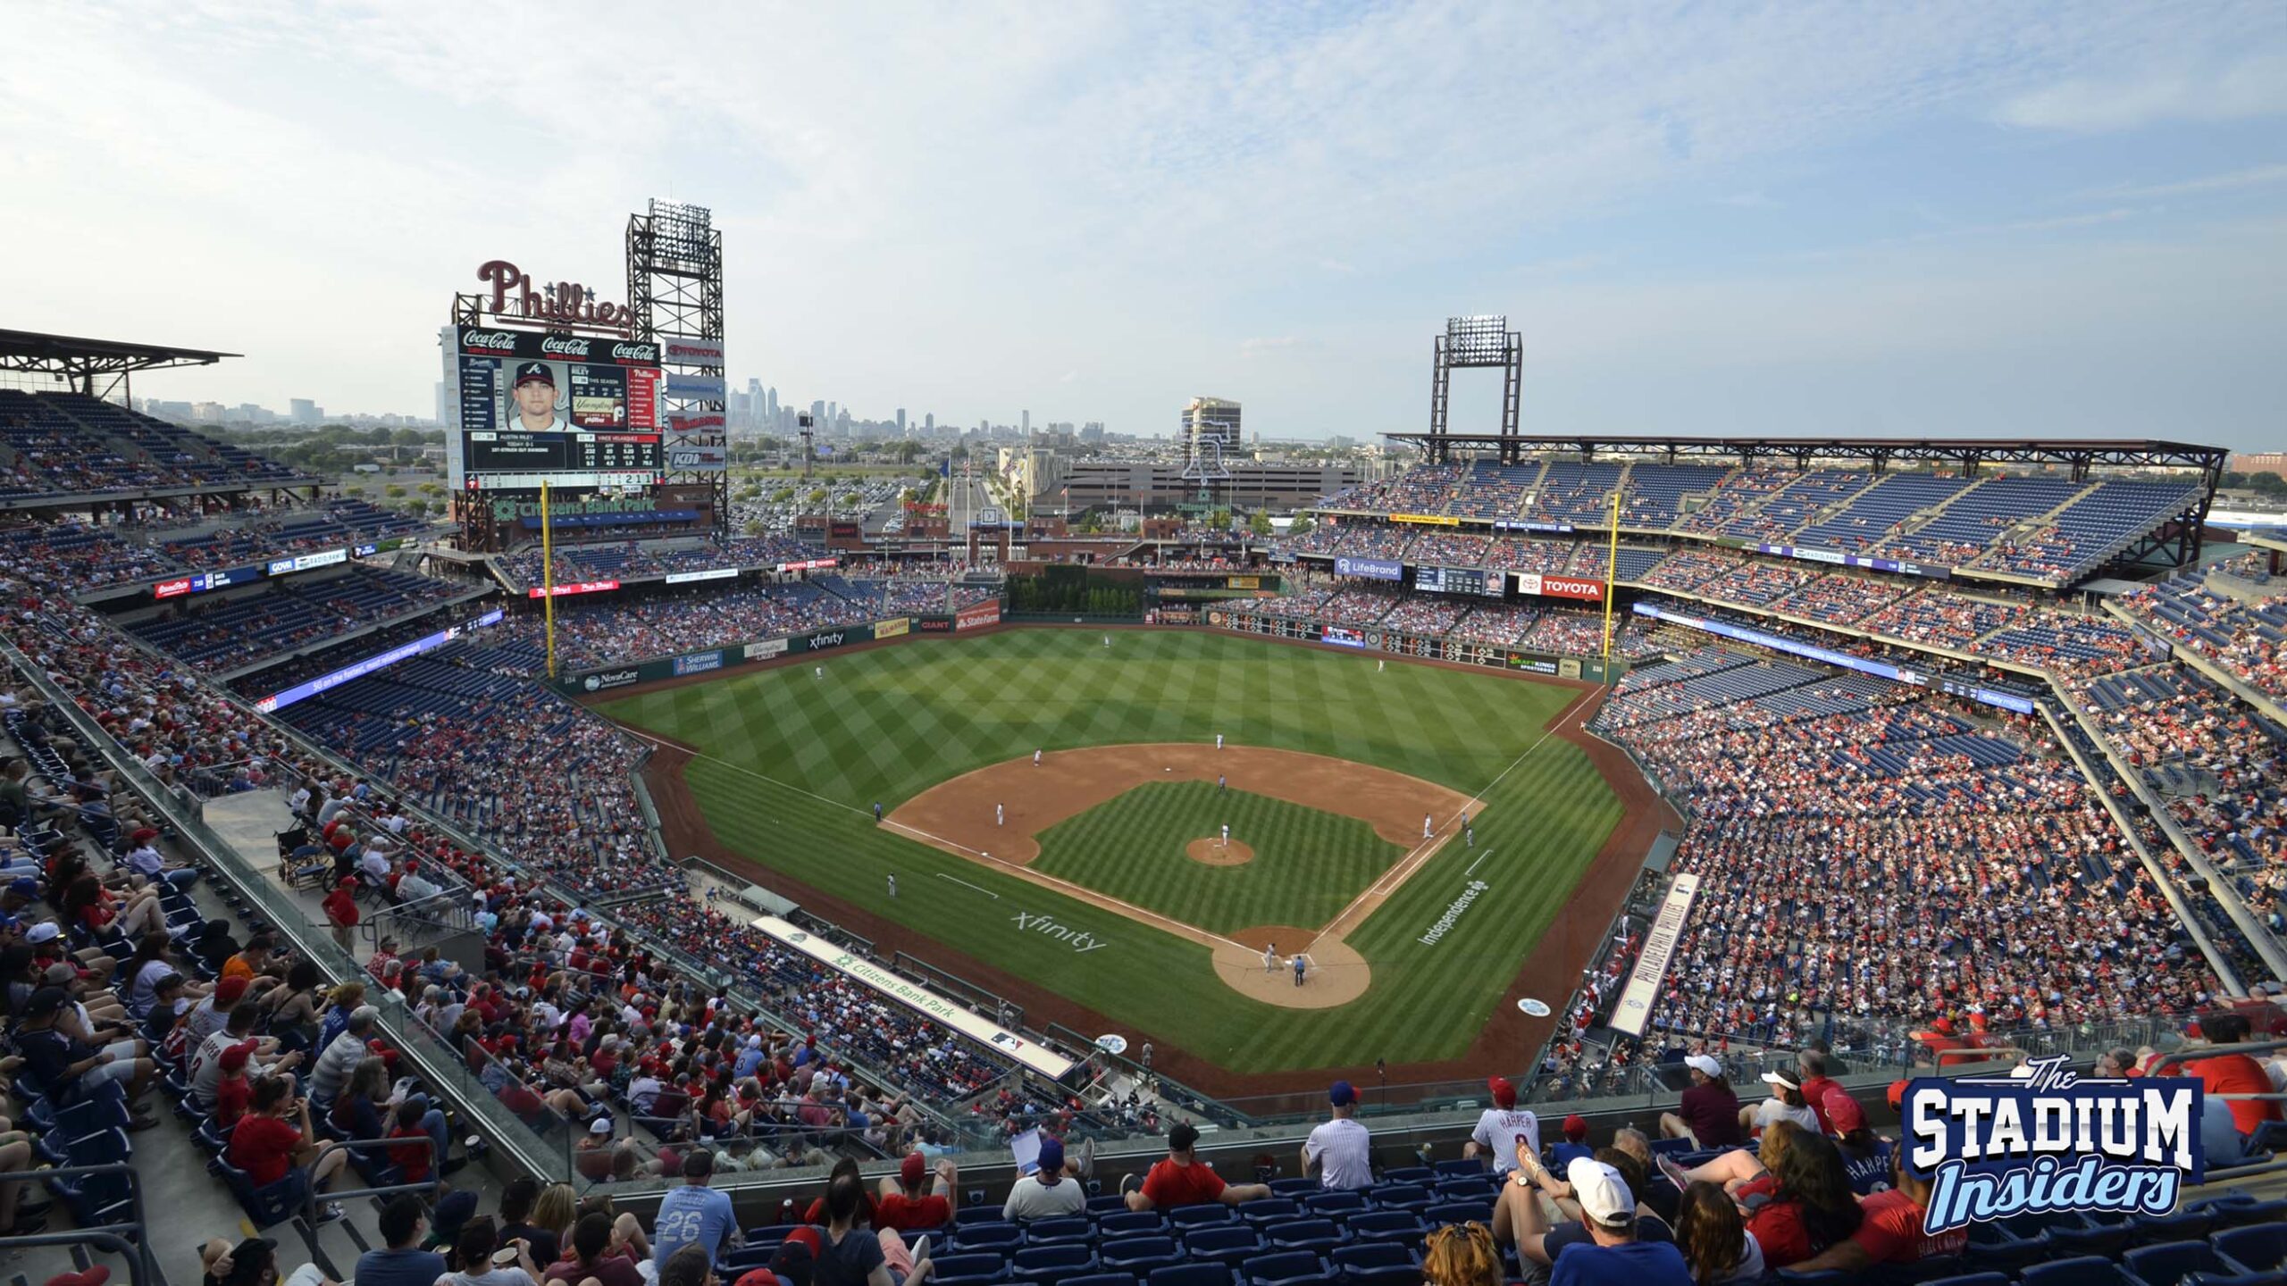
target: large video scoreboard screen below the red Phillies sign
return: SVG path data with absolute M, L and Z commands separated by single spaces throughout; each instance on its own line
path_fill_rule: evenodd
M 455 490 L 650 487 L 659 442 L 659 346 L 508 327 L 444 327 Z

